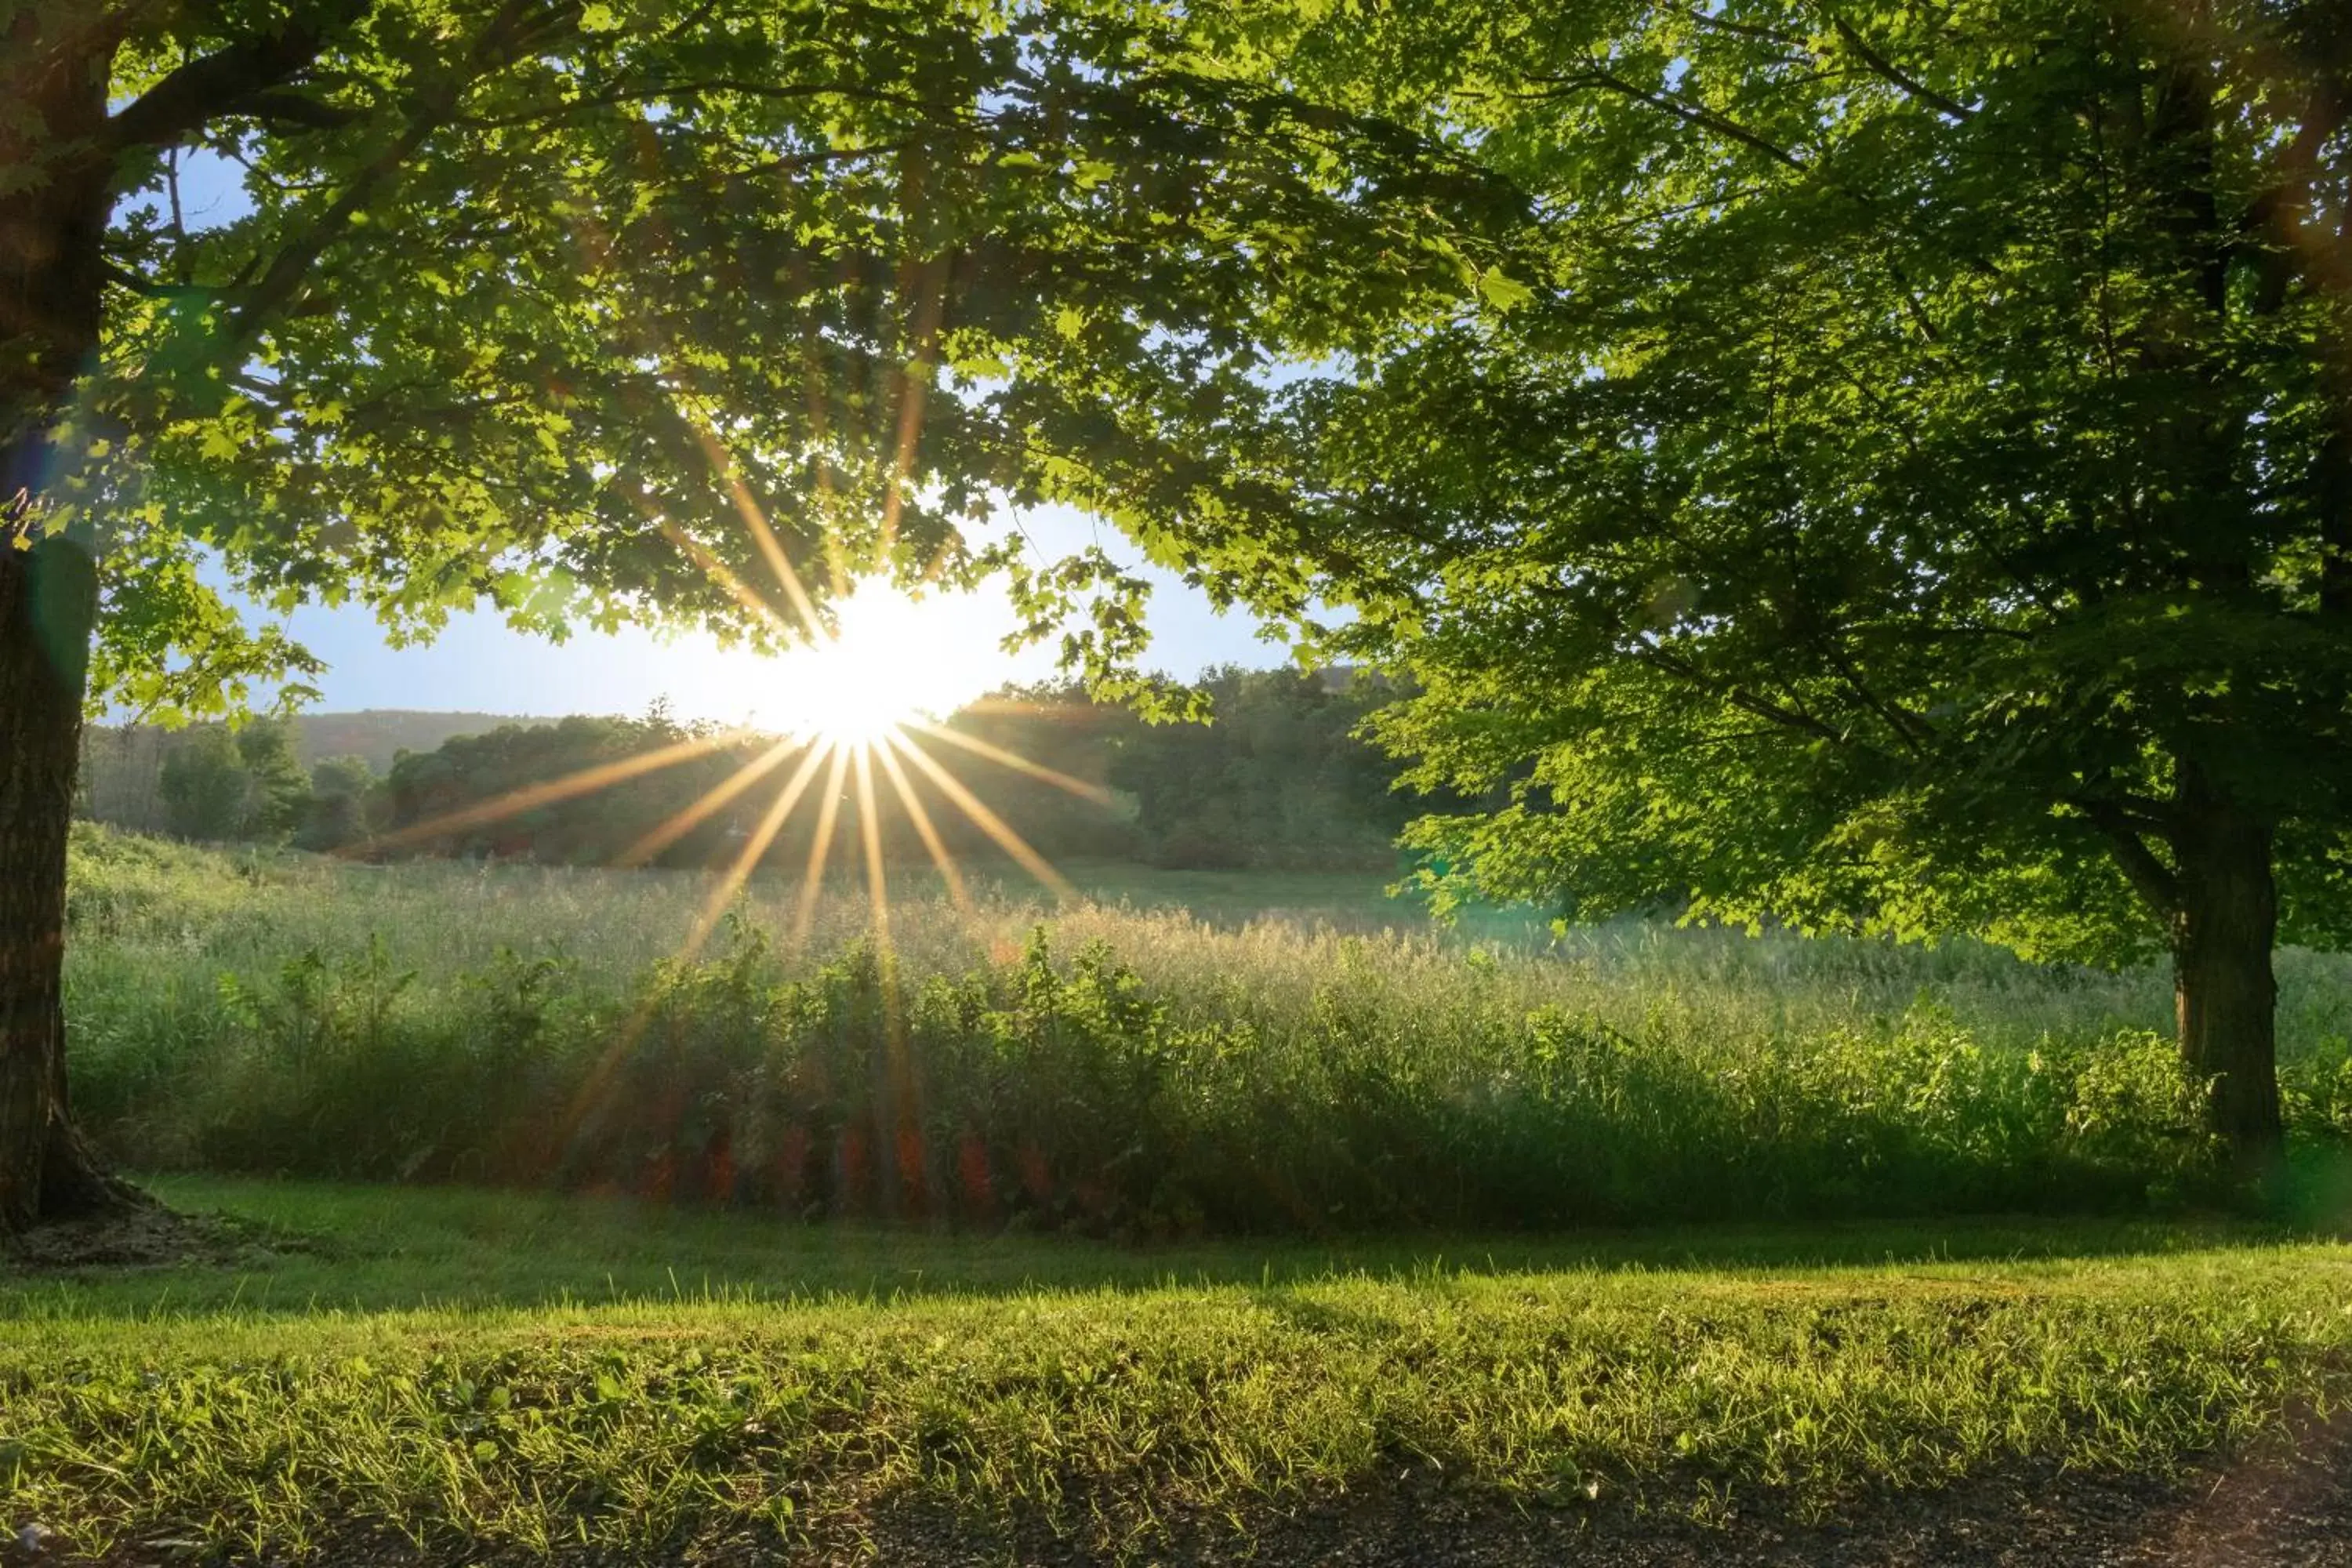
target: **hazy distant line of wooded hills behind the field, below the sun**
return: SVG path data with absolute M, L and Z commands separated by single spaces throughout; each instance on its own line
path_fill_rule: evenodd
M 1214 670 L 1211 724 L 1145 724 L 1075 689 L 1007 691 L 946 729 L 1051 769 L 1056 785 L 936 736 L 915 736 L 946 771 L 1047 858 L 1138 860 L 1185 870 L 1395 865 L 1395 837 L 1428 806 L 1392 788 L 1395 766 L 1357 729 L 1388 693 L 1348 672 Z M 722 863 L 753 837 L 797 757 L 739 738 L 708 752 L 496 820 L 433 823 L 586 769 L 722 741 L 710 726 L 644 717 L 508 719 L 454 712 L 343 712 L 256 719 L 238 731 L 99 726 L 82 748 L 80 813 L 202 842 L 294 844 L 360 856 L 466 856 L 612 865 Z M 663 823 L 762 757 L 753 788 L 661 842 Z M 922 769 L 873 769 L 875 823 L 891 860 L 922 858 L 915 797 L 964 860 L 997 851 Z M 823 788 L 823 776 L 816 778 Z M 844 773 L 833 856 L 858 849 L 861 790 Z M 804 865 L 814 811 L 795 811 L 767 851 Z

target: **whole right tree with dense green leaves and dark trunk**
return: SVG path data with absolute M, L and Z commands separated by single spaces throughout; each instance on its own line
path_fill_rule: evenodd
M 1411 670 L 1576 914 L 2169 947 L 2277 1133 L 2270 943 L 2352 936 L 2343 5 L 1435 5 L 1279 71 L 1526 193 L 1446 320 L 1138 421 L 1272 496 L 1164 548 Z M 1242 496 L 1228 484 L 1223 498 Z M 1303 548 L 1265 569 L 1258 541 Z

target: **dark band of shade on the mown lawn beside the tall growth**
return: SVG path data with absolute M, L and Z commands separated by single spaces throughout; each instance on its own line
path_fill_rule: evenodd
M 155 1178 L 252 1244 L 162 1269 L 0 1272 L 7 1316 L 536 1309 L 548 1305 L 1007 1295 L 1515 1272 L 1846 1269 L 2091 1260 L 2310 1239 L 2227 1218 L 1705 1225 L 1555 1237 L 1390 1234 L 1120 1246 L 1054 1234 L 804 1225 L 750 1211 L 466 1187 Z M 2331 1206 L 2333 1208 L 2333 1206 Z M 2319 1218 L 2319 1215 L 2312 1215 Z M 2328 1218 L 2338 1218 L 2328 1215 Z M 2331 1227 L 2333 1229 L 2333 1227 Z

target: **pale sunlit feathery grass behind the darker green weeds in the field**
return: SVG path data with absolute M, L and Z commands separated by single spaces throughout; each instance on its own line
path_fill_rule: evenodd
M 717 872 L 468 865 L 412 860 L 348 865 L 285 851 L 202 851 L 85 832 L 73 891 L 73 980 L 101 1011 L 200 1004 L 223 969 L 275 969 L 303 947 L 358 952 L 381 938 L 423 983 L 482 971 L 501 950 L 567 954 L 621 978 L 677 952 L 710 900 Z M 976 907 L 950 907 L 938 872 L 891 867 L 908 973 L 962 969 L 1044 922 L 1056 947 L 1110 940 L 1155 980 L 1303 997 L 1345 954 L 1397 999 L 1465 999 L 1526 1009 L 1597 1009 L 1639 1025 L 1658 1006 L 1700 1009 L 1726 1030 L 1870 1023 L 1915 1001 L 1947 1009 L 1990 1037 L 2032 1044 L 2103 1027 L 2171 1027 L 2171 980 L 2159 969 L 2051 971 L 1971 943 L 1896 947 L 1863 940 L 1750 938 L 1621 922 L 1550 943 L 1543 922 L 1491 912 L 1463 933 L 1435 929 L 1383 896 L 1376 875 L 1160 872 L 1073 863 L 1082 900 L 1056 910 L 1009 863 L 967 872 Z M 835 952 L 868 931 L 863 875 L 821 898 L 807 933 Z M 797 877 L 760 872 L 729 905 L 786 940 L 802 898 Z M 2293 1058 L 2352 1037 L 2352 954 L 2284 950 L 2279 1037 Z

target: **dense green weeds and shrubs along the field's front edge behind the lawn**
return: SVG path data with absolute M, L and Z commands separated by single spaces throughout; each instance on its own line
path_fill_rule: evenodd
M 506 957 L 426 1009 L 414 978 L 381 945 L 223 978 L 242 1044 L 115 1114 L 219 1171 L 1152 1234 L 2105 1208 L 2206 1173 L 2197 1088 L 2147 1034 L 2027 1053 L 1931 1013 L 1726 1041 L 1489 1011 L 1432 1048 L 1355 976 L 1312 1020 L 1202 1013 L 1042 936 L 903 997 L 870 950 L 788 978 L 757 936 L 612 1011 L 562 961 Z

